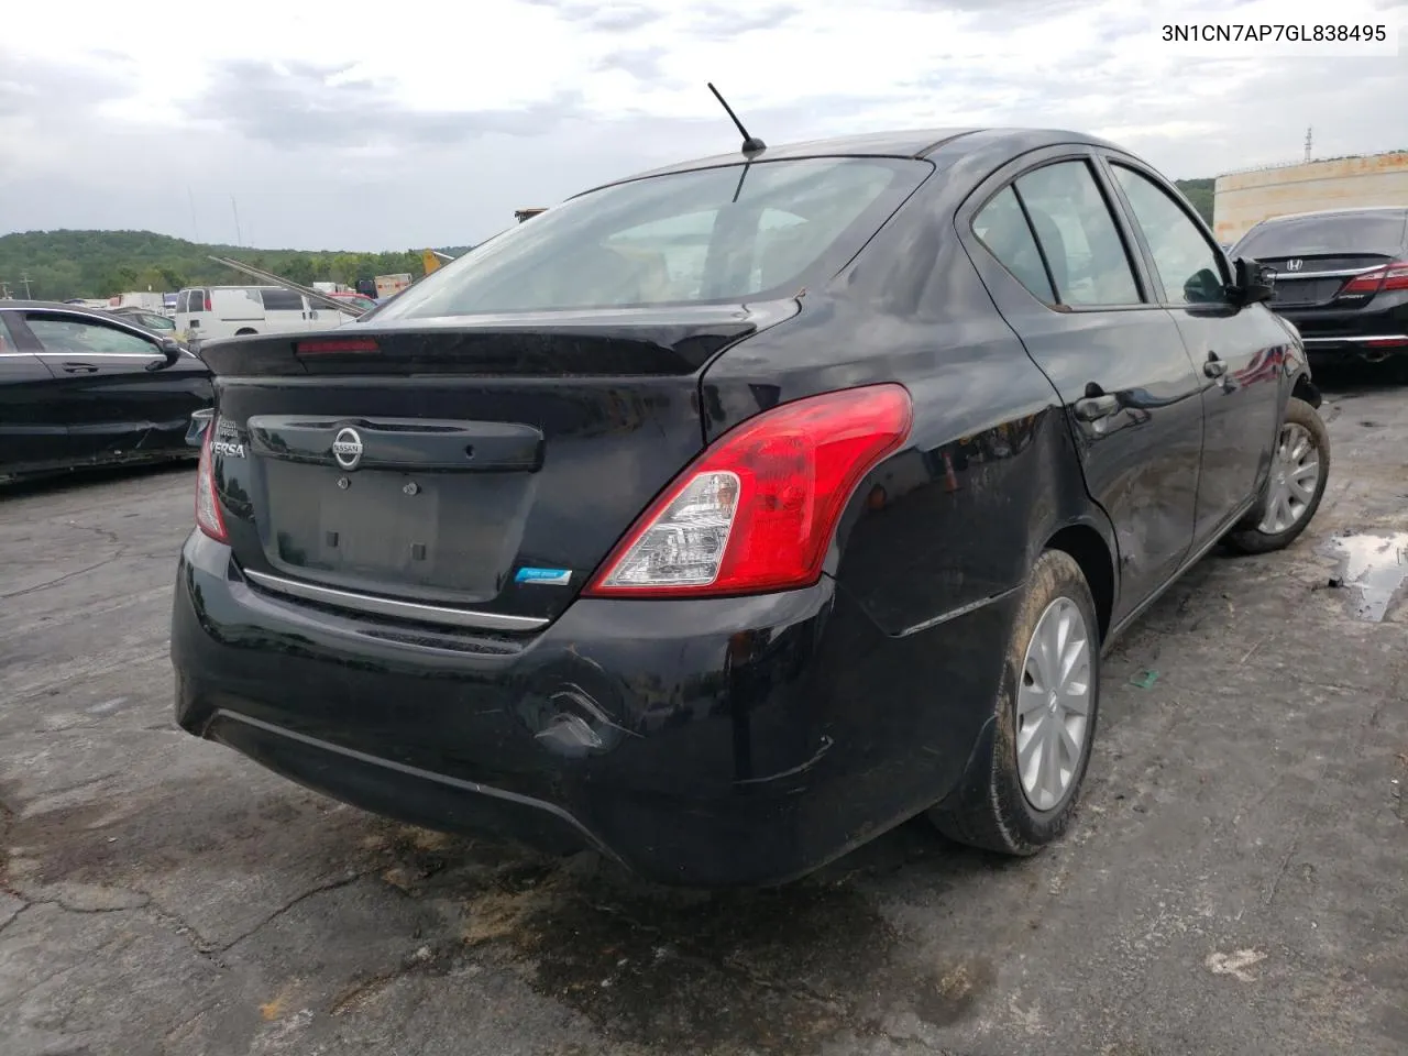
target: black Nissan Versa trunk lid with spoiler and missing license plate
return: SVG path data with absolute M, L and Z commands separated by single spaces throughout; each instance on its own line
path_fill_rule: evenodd
M 705 365 L 796 311 L 369 321 L 213 342 L 234 559 L 256 587 L 383 618 L 552 620 L 703 448 Z

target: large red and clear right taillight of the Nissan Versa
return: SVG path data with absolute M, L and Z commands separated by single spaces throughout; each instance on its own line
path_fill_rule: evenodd
M 856 486 L 910 435 L 910 393 L 812 396 L 731 429 L 650 504 L 586 589 L 703 597 L 815 583 Z

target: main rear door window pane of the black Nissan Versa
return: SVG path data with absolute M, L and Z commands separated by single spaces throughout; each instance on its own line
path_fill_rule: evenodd
M 1017 179 L 1062 304 L 1139 304 L 1119 228 L 1084 161 L 1043 165 Z

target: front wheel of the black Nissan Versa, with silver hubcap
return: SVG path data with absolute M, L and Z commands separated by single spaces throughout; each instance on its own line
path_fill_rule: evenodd
M 1325 422 L 1308 403 L 1291 398 L 1271 456 L 1271 477 L 1259 520 L 1228 532 L 1228 545 L 1242 553 L 1269 553 L 1290 546 L 1315 517 L 1328 480 Z

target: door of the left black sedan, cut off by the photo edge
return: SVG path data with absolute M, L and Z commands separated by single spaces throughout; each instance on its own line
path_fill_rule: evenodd
M 0 311 L 0 476 L 72 460 L 59 382 L 31 348 L 21 348 Z

